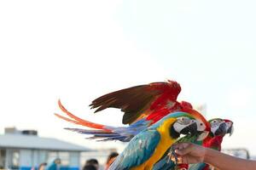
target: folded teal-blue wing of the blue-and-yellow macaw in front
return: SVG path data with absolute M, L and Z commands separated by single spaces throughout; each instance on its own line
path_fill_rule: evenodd
M 156 130 L 148 129 L 137 134 L 131 139 L 125 150 L 113 161 L 109 170 L 128 170 L 143 164 L 154 154 L 159 141 L 160 133 Z

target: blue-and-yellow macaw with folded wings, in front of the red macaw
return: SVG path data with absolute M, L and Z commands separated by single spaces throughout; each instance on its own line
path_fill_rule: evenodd
M 180 133 L 195 135 L 198 132 L 196 121 L 195 117 L 185 112 L 164 116 L 131 139 L 109 170 L 152 169 Z

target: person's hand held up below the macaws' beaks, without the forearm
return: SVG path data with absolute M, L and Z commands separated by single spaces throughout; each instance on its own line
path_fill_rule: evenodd
M 203 162 L 207 151 L 205 147 L 191 143 L 175 144 L 173 149 L 177 154 L 178 163 L 186 164 Z

